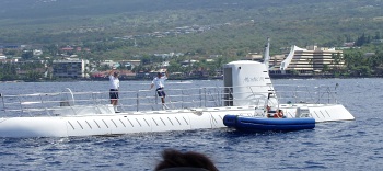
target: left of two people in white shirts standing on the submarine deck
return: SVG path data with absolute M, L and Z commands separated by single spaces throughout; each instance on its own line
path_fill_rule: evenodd
M 114 68 L 109 71 L 109 98 L 111 98 L 111 104 L 113 105 L 113 109 L 115 110 L 116 113 L 119 113 L 119 111 L 117 110 L 118 89 L 119 89 L 118 72 Z

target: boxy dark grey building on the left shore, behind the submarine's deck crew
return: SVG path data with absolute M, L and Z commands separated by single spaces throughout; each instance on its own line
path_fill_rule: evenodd
M 57 78 L 85 78 L 88 65 L 89 60 L 83 59 L 54 60 L 53 75 Z

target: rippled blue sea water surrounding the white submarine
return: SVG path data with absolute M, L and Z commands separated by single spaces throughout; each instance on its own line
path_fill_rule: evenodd
M 356 121 L 316 124 L 293 133 L 241 134 L 228 128 L 117 137 L 0 138 L 0 170 L 153 170 L 165 148 L 209 156 L 220 170 L 383 170 L 383 79 L 274 80 L 275 84 L 336 84 Z M 0 93 L 107 91 L 108 82 L 0 83 Z M 150 81 L 123 81 L 138 90 Z M 167 81 L 167 88 L 222 86 Z

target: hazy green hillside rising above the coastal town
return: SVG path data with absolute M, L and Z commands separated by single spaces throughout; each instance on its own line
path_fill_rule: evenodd
M 94 56 L 198 52 L 243 55 L 291 45 L 339 46 L 383 33 L 382 0 L 2 0 L 0 43 L 93 47 Z M 201 33 L 113 37 L 207 26 Z M 118 42 L 118 43 L 117 43 Z M 98 45 L 97 45 L 98 44 Z M 106 47 L 97 49 L 97 46 Z

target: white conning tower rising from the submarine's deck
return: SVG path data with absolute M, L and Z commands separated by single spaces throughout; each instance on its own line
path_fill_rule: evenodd
M 265 105 L 274 87 L 265 64 L 237 60 L 223 66 L 224 105 Z

